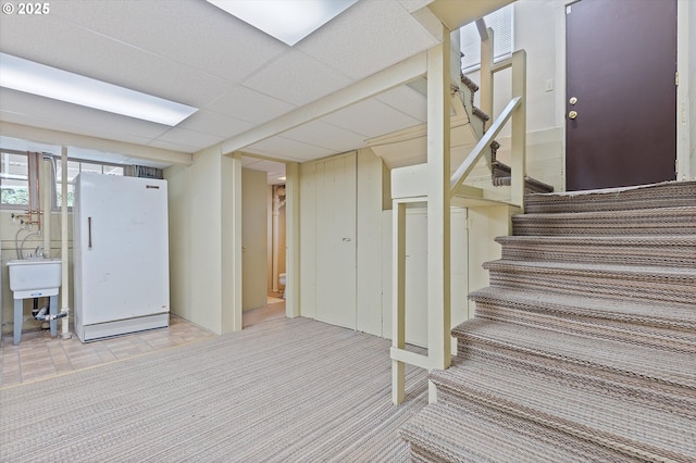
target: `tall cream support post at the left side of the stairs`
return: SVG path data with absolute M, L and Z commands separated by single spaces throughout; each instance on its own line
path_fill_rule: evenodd
M 427 51 L 427 347 L 431 367 L 442 370 L 451 362 L 449 61 L 449 40 Z

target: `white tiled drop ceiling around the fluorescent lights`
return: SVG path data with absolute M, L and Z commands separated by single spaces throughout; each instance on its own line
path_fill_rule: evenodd
M 431 1 L 360 0 L 288 47 L 204 0 L 52 0 L 49 14 L 1 15 L 0 51 L 199 111 L 170 127 L 1 88 L 0 123 L 127 143 L 127 158 L 146 147 L 144 158 L 159 150 L 159 163 L 167 153 L 181 162 L 182 153 L 222 143 L 437 45 L 419 13 Z M 241 151 L 302 162 L 423 122 L 425 98 L 400 86 Z

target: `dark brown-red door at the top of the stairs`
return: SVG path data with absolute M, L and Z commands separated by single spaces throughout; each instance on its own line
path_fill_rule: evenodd
M 566 188 L 675 179 L 676 0 L 581 0 L 566 26 Z

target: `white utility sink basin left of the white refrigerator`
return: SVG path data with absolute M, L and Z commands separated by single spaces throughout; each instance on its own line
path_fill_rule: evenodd
M 60 259 L 24 259 L 8 262 L 10 289 L 40 291 L 58 289 L 61 286 Z

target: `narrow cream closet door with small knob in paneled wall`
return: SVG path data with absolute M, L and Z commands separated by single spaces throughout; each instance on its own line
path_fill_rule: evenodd
M 356 329 L 355 153 L 316 163 L 316 320 Z

